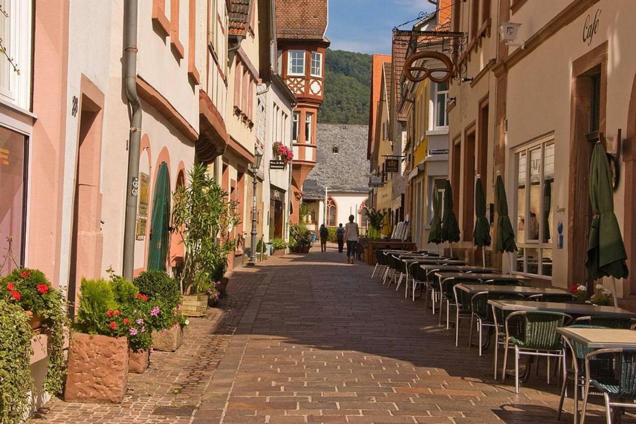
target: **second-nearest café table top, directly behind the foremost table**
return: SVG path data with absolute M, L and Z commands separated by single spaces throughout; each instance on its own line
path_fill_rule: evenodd
M 558 302 L 534 302 L 520 300 L 495 300 L 488 303 L 504 311 L 551 311 L 562 312 L 569 315 L 604 315 L 606 317 L 630 317 L 636 318 L 636 313 L 614 306 L 598 306 L 590 303 L 558 303 Z

